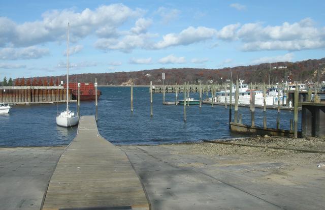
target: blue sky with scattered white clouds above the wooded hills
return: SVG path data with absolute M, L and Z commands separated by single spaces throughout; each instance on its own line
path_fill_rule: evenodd
M 325 1 L 2 1 L 0 78 L 325 57 Z

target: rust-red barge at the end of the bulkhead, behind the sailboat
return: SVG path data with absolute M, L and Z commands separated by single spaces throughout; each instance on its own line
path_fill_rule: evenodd
M 67 84 L 64 84 L 64 88 Z M 72 98 L 74 100 L 78 99 L 78 82 L 69 82 L 69 89 L 72 91 Z M 91 101 L 95 100 L 95 86 L 91 82 L 80 82 L 80 101 Z M 99 99 L 102 92 L 97 89 L 97 98 Z

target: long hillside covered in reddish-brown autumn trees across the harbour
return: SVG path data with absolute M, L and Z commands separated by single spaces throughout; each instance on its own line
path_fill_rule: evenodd
M 274 69 L 274 67 L 283 67 L 284 69 Z M 253 66 L 238 66 L 231 68 L 233 79 L 244 79 L 245 82 L 269 82 L 270 64 L 259 64 Z M 278 62 L 271 64 L 271 82 L 285 81 L 285 73 L 289 81 L 317 81 L 318 73 L 320 70 L 320 81 L 325 80 L 325 58 L 309 59 L 301 62 Z M 154 84 L 161 84 L 161 73 L 166 73 L 165 83 L 168 84 L 182 84 L 184 82 L 207 82 L 213 80 L 214 82 L 223 82 L 225 79 L 231 78 L 230 68 L 223 69 L 152 69 L 136 72 L 114 72 L 114 73 L 89 73 L 89 74 L 74 74 L 70 75 L 72 82 L 94 82 L 97 78 L 99 85 L 127 85 L 132 81 L 135 85 L 149 85 L 150 81 Z M 37 80 L 50 83 L 52 80 L 63 80 L 65 76 L 58 77 L 37 77 L 25 78 L 25 81 Z

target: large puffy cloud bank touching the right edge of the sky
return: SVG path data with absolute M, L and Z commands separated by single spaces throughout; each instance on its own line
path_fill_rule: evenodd
M 317 28 L 311 18 L 282 25 L 264 26 L 263 23 L 246 23 L 224 26 L 218 32 L 223 40 L 240 40 L 241 50 L 303 50 L 325 47 L 325 28 Z

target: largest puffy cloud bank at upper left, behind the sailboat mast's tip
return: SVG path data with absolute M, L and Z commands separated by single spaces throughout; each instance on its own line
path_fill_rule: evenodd
M 0 17 L 0 41 L 15 47 L 31 46 L 45 42 L 66 39 L 67 23 L 71 23 L 71 40 L 92 34 L 108 36 L 110 28 L 122 25 L 129 18 L 139 17 L 141 9 L 130 9 L 123 4 L 103 5 L 95 10 L 51 10 L 43 13 L 42 20 L 17 24 L 6 17 Z

